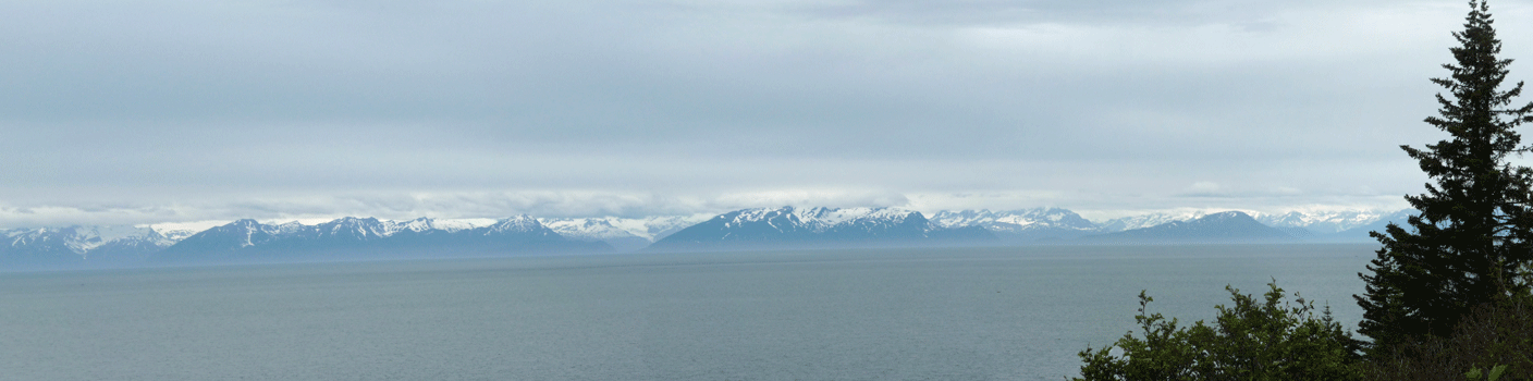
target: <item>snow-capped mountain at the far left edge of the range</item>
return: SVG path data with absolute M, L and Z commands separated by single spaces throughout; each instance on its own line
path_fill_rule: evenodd
M 138 226 L 17 228 L 0 231 L 0 263 L 14 268 L 132 262 L 175 243 Z

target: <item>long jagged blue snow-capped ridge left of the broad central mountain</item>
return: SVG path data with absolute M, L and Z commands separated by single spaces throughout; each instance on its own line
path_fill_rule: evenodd
M 236 220 L 187 237 L 153 256 L 159 262 L 270 262 L 446 256 L 601 252 L 601 242 L 569 240 L 537 219 L 489 225 L 463 220 L 406 222 L 343 217 L 317 225 Z

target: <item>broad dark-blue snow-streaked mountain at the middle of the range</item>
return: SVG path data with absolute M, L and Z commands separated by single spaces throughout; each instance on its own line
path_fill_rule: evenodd
M 719 214 L 653 249 L 748 249 L 993 242 L 980 226 L 943 228 L 898 208 L 753 208 Z

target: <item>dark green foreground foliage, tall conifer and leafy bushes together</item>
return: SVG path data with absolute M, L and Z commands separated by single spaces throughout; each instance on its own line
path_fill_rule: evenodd
M 1401 145 L 1432 179 L 1406 196 L 1420 214 L 1372 233 L 1383 248 L 1358 274 L 1366 360 L 1329 309 L 1285 303 L 1275 283 L 1265 300 L 1229 289 L 1214 324 L 1185 327 L 1141 292 L 1142 337 L 1079 352 L 1082 379 L 1533 379 L 1533 168 L 1508 159 L 1533 151 L 1515 130 L 1533 103 L 1513 106 L 1522 83 L 1501 89 L 1512 60 L 1485 0 L 1469 5 L 1452 75 L 1432 80 L 1447 96 L 1426 118 L 1449 138 Z

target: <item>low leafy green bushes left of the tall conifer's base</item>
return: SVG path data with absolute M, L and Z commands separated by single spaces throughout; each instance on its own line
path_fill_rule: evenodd
M 1147 314 L 1153 298 L 1139 292 L 1142 337 L 1130 332 L 1111 346 L 1087 347 L 1078 379 L 1360 379 L 1360 343 L 1331 309 L 1315 317 L 1312 301 L 1297 294 L 1285 301 L 1275 282 L 1268 286 L 1262 300 L 1226 286 L 1233 304 L 1217 306 L 1214 324 L 1187 327 Z

